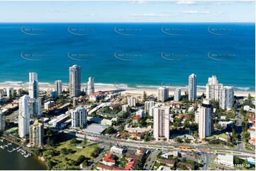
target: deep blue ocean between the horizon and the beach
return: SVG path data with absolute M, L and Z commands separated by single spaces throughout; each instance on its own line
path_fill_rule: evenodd
M 0 23 L 0 82 L 69 81 L 131 87 L 188 85 L 195 73 L 235 90 L 255 91 L 255 23 Z

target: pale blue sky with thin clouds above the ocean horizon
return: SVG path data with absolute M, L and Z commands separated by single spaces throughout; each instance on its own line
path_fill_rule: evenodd
M 0 1 L 0 23 L 255 23 L 255 1 Z

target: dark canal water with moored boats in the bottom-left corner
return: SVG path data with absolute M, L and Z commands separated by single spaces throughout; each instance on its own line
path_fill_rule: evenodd
M 1 145 L 6 145 L 8 141 L 1 142 Z M 0 170 L 47 170 L 43 162 L 38 160 L 34 155 L 25 158 L 21 153 L 8 151 L 11 148 L 16 148 L 16 145 L 11 145 L 8 148 L 0 148 Z

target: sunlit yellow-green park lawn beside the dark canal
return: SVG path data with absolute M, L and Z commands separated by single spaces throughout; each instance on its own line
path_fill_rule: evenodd
M 52 170 L 64 170 L 65 169 L 64 167 L 80 168 L 79 166 L 67 165 L 68 161 L 65 160 L 65 158 L 69 158 L 69 159 L 72 159 L 72 160 L 77 160 L 77 158 L 79 158 L 80 155 L 84 155 L 84 157 L 86 157 L 86 158 L 91 158 L 91 153 L 94 151 L 96 146 L 98 146 L 98 145 L 94 144 L 94 145 L 87 146 L 85 148 L 80 149 L 80 148 L 77 148 L 77 146 L 70 146 L 69 145 L 70 141 L 71 140 L 60 143 L 60 146 L 57 146 L 55 148 L 55 150 L 60 152 L 61 148 L 67 148 L 67 149 L 72 149 L 73 151 L 76 151 L 76 152 L 72 153 L 72 154 L 67 154 L 67 155 L 60 154 L 60 155 L 57 155 L 57 156 L 50 157 L 50 160 L 52 160 L 54 162 L 57 161 L 57 165 L 52 167 Z

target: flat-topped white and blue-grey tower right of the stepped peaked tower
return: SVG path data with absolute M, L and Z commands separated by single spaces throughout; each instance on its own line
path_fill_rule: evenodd
M 223 110 L 231 110 L 234 104 L 234 89 L 233 86 L 223 86 L 220 89 L 220 107 Z

